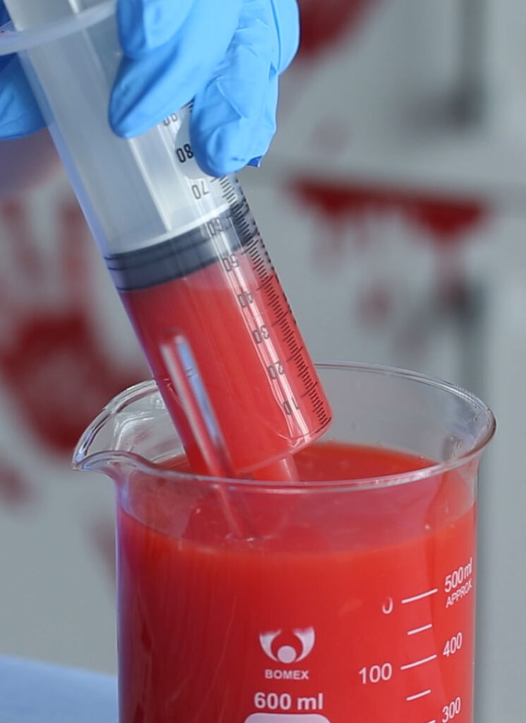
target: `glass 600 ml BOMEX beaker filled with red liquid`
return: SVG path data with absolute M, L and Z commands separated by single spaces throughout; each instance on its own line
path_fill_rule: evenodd
M 493 415 L 412 372 L 318 370 L 335 421 L 302 482 L 190 474 L 153 382 L 80 440 L 116 483 L 121 723 L 473 719 Z

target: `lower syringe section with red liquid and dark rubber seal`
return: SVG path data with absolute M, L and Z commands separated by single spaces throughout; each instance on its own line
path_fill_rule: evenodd
M 210 187 L 223 214 L 108 268 L 178 429 L 190 422 L 193 468 L 200 452 L 209 471 L 291 476 L 284 460 L 327 427 L 327 405 L 238 182 Z M 281 462 L 258 473 L 262 460 Z

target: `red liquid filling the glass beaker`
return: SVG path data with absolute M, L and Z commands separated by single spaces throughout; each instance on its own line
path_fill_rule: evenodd
M 314 481 L 428 464 L 330 444 L 296 463 Z M 251 539 L 210 487 L 135 479 L 118 508 L 121 723 L 471 722 L 475 474 L 230 488 Z

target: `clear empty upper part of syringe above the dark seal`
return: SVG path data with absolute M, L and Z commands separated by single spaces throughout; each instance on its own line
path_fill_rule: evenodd
M 6 7 L 17 30 L 30 30 L 104 4 L 7 0 Z M 189 162 L 188 109 L 133 139 L 111 131 L 108 100 L 121 55 L 114 14 L 21 54 L 105 257 L 170 239 L 228 209 L 210 176 Z

